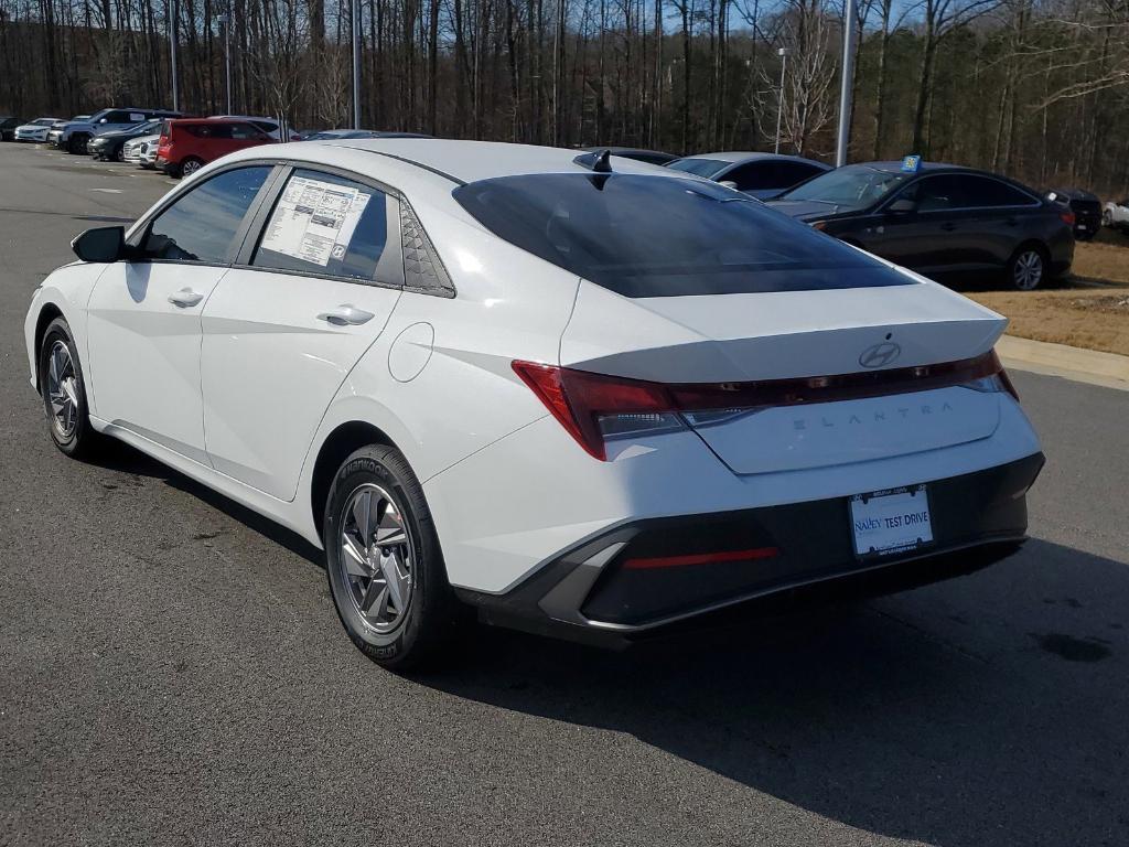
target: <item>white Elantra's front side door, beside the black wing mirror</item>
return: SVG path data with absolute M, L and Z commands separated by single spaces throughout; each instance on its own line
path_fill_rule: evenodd
M 137 257 L 102 274 L 88 307 L 97 417 L 207 463 L 200 315 L 271 169 L 225 171 L 176 195 L 131 237 Z

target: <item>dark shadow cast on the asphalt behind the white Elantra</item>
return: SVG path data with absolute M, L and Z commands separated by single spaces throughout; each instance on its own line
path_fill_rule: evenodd
M 622 654 L 483 631 L 457 670 L 420 682 L 625 733 L 883 836 L 1114 844 L 1129 824 L 1127 608 L 1126 564 L 1032 540 L 852 611 Z

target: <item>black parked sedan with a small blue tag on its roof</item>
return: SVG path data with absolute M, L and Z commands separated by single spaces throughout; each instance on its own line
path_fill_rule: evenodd
M 1012 180 L 954 165 L 847 165 L 769 204 L 927 276 L 1003 270 L 1027 291 L 1074 261 L 1074 212 Z

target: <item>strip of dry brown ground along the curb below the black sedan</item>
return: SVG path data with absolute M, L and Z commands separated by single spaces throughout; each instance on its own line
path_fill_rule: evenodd
M 1129 286 L 968 296 L 1006 315 L 1010 335 L 1129 356 Z

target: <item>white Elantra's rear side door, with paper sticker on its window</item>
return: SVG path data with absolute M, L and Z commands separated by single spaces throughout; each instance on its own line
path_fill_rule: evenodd
M 203 313 L 201 379 L 217 470 L 294 499 L 314 433 L 403 289 L 399 201 L 297 168 Z

